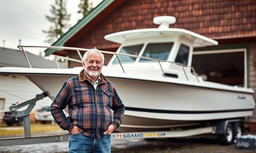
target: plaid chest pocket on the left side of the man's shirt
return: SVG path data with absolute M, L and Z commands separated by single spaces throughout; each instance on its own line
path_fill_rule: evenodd
M 76 87 L 73 93 L 75 104 L 90 103 L 92 101 L 92 93 L 88 87 Z

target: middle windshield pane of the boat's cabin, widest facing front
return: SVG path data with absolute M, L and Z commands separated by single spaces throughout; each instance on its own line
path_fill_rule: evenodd
M 168 43 L 150 43 L 146 47 L 142 56 L 156 58 L 159 60 L 167 60 L 171 49 L 173 46 L 173 42 Z M 140 61 L 152 61 L 145 58 L 140 58 Z

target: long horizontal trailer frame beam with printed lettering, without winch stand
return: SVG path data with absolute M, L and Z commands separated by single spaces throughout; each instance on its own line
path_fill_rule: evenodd
M 207 133 L 214 133 L 215 127 L 195 128 L 178 131 L 153 131 L 153 132 L 131 132 L 131 133 L 112 133 L 111 140 L 117 139 L 152 139 L 152 138 L 171 138 L 171 137 L 186 137 L 192 135 L 200 135 Z M 37 143 L 53 143 L 53 142 L 67 142 L 69 141 L 69 134 L 52 135 L 52 136 L 36 136 L 25 138 L 7 138 L 0 139 L 0 147 L 28 145 Z

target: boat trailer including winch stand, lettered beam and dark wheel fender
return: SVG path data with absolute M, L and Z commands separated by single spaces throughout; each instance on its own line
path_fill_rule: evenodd
M 13 113 L 16 120 L 18 117 L 23 117 L 24 120 L 24 137 L 19 138 L 3 138 L 0 139 L 0 147 L 5 146 L 16 146 L 16 145 L 28 145 L 38 143 L 53 143 L 53 142 L 66 142 L 69 141 L 69 134 L 61 135 L 50 135 L 50 136 L 33 136 L 31 137 L 30 132 L 30 120 L 29 114 L 36 105 L 38 100 L 47 97 L 47 92 L 37 94 L 36 98 L 30 99 L 18 105 L 12 104 L 9 110 Z M 27 106 L 28 108 L 24 111 L 17 111 L 18 109 Z M 152 139 L 152 138 L 172 138 L 172 137 L 186 137 L 201 134 L 220 134 L 223 135 L 227 131 L 228 124 L 242 123 L 240 119 L 221 120 L 217 124 L 206 127 L 196 127 L 190 129 L 172 128 L 167 131 L 148 131 L 148 132 L 130 132 L 130 133 L 112 133 L 111 140 L 116 139 Z M 224 135 L 226 136 L 226 135 Z

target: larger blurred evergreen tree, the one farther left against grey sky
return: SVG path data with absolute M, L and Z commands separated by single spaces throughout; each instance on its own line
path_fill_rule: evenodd
M 48 31 L 43 30 L 43 33 L 46 33 L 49 38 L 44 42 L 52 44 L 60 38 L 65 30 L 70 28 L 68 21 L 70 20 L 71 14 L 67 12 L 66 3 L 67 1 L 65 0 L 55 0 L 55 4 L 51 5 L 51 16 L 45 15 L 46 19 L 53 25 L 50 26 Z

